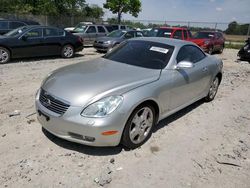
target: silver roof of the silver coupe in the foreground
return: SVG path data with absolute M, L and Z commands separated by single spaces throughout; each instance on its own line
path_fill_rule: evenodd
M 195 44 L 193 42 L 179 40 L 179 39 L 173 39 L 173 38 L 164 38 L 164 37 L 138 37 L 138 38 L 133 38 L 130 40 L 158 42 L 158 43 L 167 44 L 167 45 L 176 46 L 176 47 L 181 47 L 184 45 L 194 45 L 195 46 Z

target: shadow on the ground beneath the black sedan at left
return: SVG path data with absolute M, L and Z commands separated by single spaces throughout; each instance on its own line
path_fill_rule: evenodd
M 75 54 L 73 58 L 69 59 L 74 59 L 74 58 L 80 58 L 85 56 L 84 54 Z M 29 63 L 29 62 L 39 62 L 39 61 L 45 61 L 45 60 L 57 60 L 57 59 L 62 59 L 61 56 L 45 56 L 45 57 L 27 57 L 27 58 L 18 58 L 18 59 L 13 59 L 8 62 L 8 64 L 12 63 Z

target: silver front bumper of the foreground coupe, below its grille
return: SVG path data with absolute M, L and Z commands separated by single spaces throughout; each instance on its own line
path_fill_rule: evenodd
M 44 129 L 62 139 L 89 146 L 117 146 L 120 143 L 126 123 L 124 114 L 114 112 L 105 118 L 86 118 L 80 115 L 82 107 L 70 106 L 63 115 L 58 115 L 39 101 L 36 95 L 37 119 Z M 103 135 L 106 131 L 118 131 L 113 135 Z

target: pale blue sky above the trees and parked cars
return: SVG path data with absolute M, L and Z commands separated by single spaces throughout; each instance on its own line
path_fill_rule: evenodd
M 86 2 L 102 7 L 105 0 Z M 138 18 L 123 14 L 122 19 L 250 23 L 250 0 L 141 0 L 141 3 Z M 104 19 L 109 17 L 115 15 L 105 9 Z

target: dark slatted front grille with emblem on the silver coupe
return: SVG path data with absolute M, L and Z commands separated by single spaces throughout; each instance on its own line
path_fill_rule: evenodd
M 41 104 L 52 112 L 63 115 L 69 108 L 69 104 L 62 102 L 48 94 L 43 89 L 40 92 L 39 101 Z

